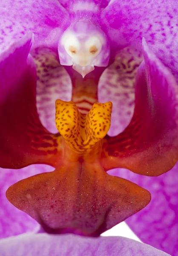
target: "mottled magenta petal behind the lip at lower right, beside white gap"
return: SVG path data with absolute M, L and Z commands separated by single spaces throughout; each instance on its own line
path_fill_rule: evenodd
M 144 243 L 178 256 L 178 164 L 158 177 L 144 177 L 125 169 L 114 169 L 109 174 L 148 189 L 150 203 L 126 223 Z

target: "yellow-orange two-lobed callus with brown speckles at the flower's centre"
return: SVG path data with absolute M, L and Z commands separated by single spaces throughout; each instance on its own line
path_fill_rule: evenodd
M 106 136 L 111 124 L 112 102 L 95 103 L 87 115 L 74 102 L 56 100 L 56 127 L 74 151 L 84 154 Z

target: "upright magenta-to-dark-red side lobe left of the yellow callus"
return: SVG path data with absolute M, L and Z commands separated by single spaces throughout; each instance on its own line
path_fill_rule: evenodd
M 38 118 L 36 69 L 28 56 L 30 47 L 31 38 L 27 36 L 0 56 L 0 167 L 3 168 L 18 169 L 32 163 L 55 165 L 58 155 L 60 136 L 46 131 Z

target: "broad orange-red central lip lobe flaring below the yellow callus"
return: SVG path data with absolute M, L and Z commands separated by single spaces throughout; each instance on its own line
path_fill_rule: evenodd
M 99 236 L 150 201 L 146 189 L 108 175 L 98 161 L 70 162 L 66 158 L 54 172 L 10 186 L 6 196 L 46 232 L 83 236 Z

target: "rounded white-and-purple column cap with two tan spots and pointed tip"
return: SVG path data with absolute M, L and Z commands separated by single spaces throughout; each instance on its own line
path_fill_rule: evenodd
M 94 24 L 78 21 L 60 38 L 58 45 L 60 64 L 70 66 L 83 77 L 94 66 L 106 67 L 109 61 L 109 42 L 104 32 Z

